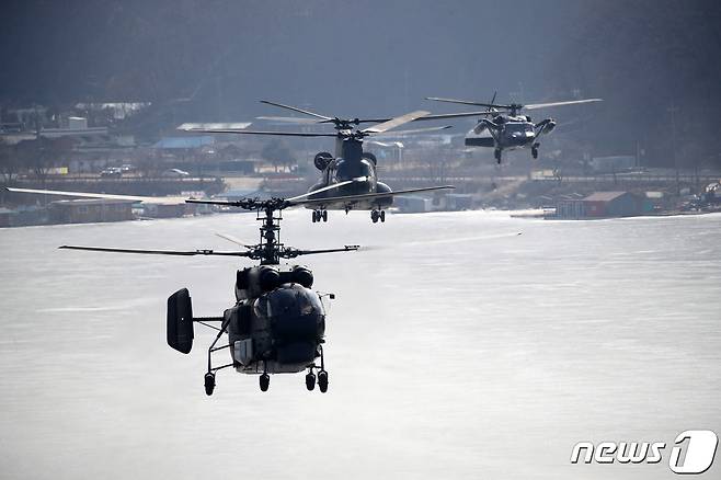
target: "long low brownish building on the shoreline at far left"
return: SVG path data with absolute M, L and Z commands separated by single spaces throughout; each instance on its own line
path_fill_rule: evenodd
M 133 204 L 126 199 L 68 199 L 49 205 L 50 221 L 54 224 L 91 224 L 101 221 L 133 220 Z

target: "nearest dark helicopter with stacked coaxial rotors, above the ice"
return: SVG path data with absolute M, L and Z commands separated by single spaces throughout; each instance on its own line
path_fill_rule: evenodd
M 218 204 L 219 201 L 188 199 L 194 204 Z M 249 375 L 260 375 L 260 388 L 266 391 L 271 384 L 270 374 L 299 373 L 308 369 L 306 388 L 313 390 L 316 384 L 321 392 L 328 390 L 328 372 L 323 357 L 325 333 L 325 309 L 322 298 L 335 298 L 333 294 L 320 294 L 311 289 L 312 272 L 302 265 L 281 265 L 281 259 L 295 259 L 317 253 L 348 252 L 358 245 L 337 249 L 298 250 L 281 242 L 282 210 L 297 203 L 283 198 L 244 198 L 224 202 L 247 210 L 255 210 L 262 221 L 261 240 L 247 245 L 229 236 L 244 251 L 215 250 L 137 250 L 102 247 L 62 245 L 60 249 L 87 250 L 95 252 L 140 253 L 159 255 L 222 255 L 244 256 L 259 260 L 260 265 L 238 270 L 236 275 L 236 305 L 221 317 L 194 317 L 193 305 L 187 288 L 175 292 L 168 298 L 167 339 L 168 344 L 184 354 L 193 347 L 194 323 L 218 333 L 208 347 L 208 369 L 204 384 L 206 395 L 213 395 L 216 387 L 216 373 L 224 368 Z M 213 323 L 219 324 L 219 327 Z M 227 334 L 228 344 L 216 346 Z M 230 351 L 230 363 L 214 366 L 213 354 L 221 350 Z M 319 364 L 317 364 L 319 359 Z M 314 372 L 318 372 L 316 377 Z

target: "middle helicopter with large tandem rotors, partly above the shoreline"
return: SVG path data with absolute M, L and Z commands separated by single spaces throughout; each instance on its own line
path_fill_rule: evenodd
M 298 117 L 259 117 L 261 119 L 290 122 L 298 124 L 332 124 L 335 133 L 321 132 L 268 132 L 247 130 L 244 128 L 208 128 L 203 124 L 183 124 L 178 129 L 183 132 L 210 133 L 210 134 L 244 134 L 244 135 L 274 135 L 288 137 L 332 137 L 335 138 L 334 155 L 321 151 L 313 158 L 313 164 L 320 170 L 321 179 L 310 187 L 305 203 L 307 208 L 312 209 L 313 222 L 328 221 L 328 210 L 352 209 L 370 210 L 370 219 L 374 224 L 386 221 L 385 208 L 393 204 L 397 195 L 408 195 L 420 192 L 435 192 L 451 190 L 451 185 L 438 185 L 423 188 L 408 188 L 393 191 L 387 184 L 378 181 L 377 159 L 363 150 L 363 140 L 366 137 L 381 137 L 390 135 L 417 134 L 425 132 L 437 132 L 450 128 L 450 126 L 415 128 L 408 130 L 391 129 L 409 122 L 434 121 L 456 118 L 464 116 L 478 116 L 483 112 L 465 112 L 454 114 L 431 115 L 426 111 L 411 112 L 393 118 L 341 118 L 337 116 L 321 115 L 296 106 L 283 103 L 261 100 L 261 103 L 274 105 L 281 108 L 309 115 L 312 118 Z M 359 124 L 374 123 L 368 128 L 357 128 Z M 295 197 L 298 198 L 298 197 Z M 289 199 L 295 199 L 289 198 Z

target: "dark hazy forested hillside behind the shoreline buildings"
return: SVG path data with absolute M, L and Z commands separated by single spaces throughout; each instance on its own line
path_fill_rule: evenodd
M 191 101 L 238 121 L 259 99 L 387 115 L 428 95 L 522 102 L 583 121 L 596 153 L 721 163 L 714 0 L 3 0 L 2 105 Z M 676 129 L 672 135 L 671 108 Z M 185 118 L 175 118 L 185 119 Z M 575 135 L 575 133 L 574 133 Z

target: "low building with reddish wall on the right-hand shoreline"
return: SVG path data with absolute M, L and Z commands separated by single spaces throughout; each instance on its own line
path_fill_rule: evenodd
M 593 219 L 643 214 L 643 201 L 629 192 L 596 192 L 584 198 L 558 202 L 554 218 Z

